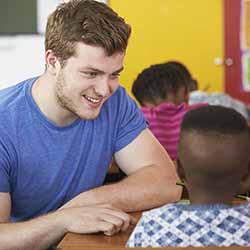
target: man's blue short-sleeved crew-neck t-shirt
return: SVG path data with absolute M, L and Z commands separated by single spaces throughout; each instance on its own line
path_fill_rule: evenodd
M 0 192 L 11 194 L 11 220 L 54 211 L 102 185 L 115 152 L 147 125 L 122 87 L 94 120 L 59 127 L 31 95 L 36 78 L 0 91 Z

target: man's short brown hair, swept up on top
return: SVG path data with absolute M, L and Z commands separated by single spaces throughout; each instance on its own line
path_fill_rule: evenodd
M 71 0 L 49 16 L 45 49 L 61 61 L 75 54 L 75 43 L 102 47 L 108 56 L 125 52 L 131 28 L 106 4 L 94 0 Z

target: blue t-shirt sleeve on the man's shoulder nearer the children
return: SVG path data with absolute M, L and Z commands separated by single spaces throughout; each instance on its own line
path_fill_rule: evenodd
M 131 143 L 145 128 L 147 123 L 136 102 L 123 88 L 119 89 L 118 97 L 118 127 L 114 151 L 118 152 Z

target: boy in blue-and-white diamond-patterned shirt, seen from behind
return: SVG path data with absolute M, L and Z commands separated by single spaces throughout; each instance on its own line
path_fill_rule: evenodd
M 190 204 L 143 213 L 129 247 L 250 246 L 250 204 L 232 205 L 249 179 L 249 128 L 231 108 L 207 106 L 182 123 L 177 171 Z

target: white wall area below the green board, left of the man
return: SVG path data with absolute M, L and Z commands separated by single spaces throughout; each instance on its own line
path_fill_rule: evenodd
M 40 75 L 44 65 L 44 36 L 0 37 L 0 88 Z

